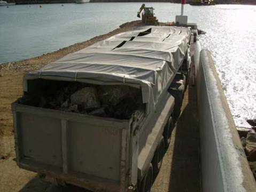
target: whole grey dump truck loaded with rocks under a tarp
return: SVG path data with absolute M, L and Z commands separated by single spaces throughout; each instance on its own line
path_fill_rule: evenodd
M 149 191 L 190 68 L 190 28 L 146 26 L 24 75 L 17 165 L 57 185 Z

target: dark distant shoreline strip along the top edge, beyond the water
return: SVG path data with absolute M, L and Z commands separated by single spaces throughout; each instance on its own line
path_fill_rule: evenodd
M 8 3 L 21 4 L 53 4 L 53 3 L 75 3 L 75 0 L 7 0 Z M 131 2 L 165 2 L 165 3 L 181 3 L 181 0 L 90 0 L 90 3 L 131 3 Z M 187 4 L 192 0 L 187 0 Z M 256 5 L 255 0 L 214 0 L 214 4 L 240 4 L 240 5 Z

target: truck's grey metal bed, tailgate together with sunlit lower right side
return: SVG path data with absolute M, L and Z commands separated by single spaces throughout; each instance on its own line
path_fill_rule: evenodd
M 164 96 L 156 112 L 136 123 L 14 102 L 17 164 L 56 183 L 125 191 L 142 178 L 172 114 L 174 98 Z

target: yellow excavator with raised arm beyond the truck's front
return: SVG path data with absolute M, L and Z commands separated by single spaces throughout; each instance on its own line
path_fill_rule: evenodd
M 141 12 L 142 13 L 142 22 L 146 25 L 158 25 L 158 19 L 154 17 L 153 7 L 145 7 L 145 4 L 142 4 L 141 8 L 139 8 L 137 17 L 141 18 Z

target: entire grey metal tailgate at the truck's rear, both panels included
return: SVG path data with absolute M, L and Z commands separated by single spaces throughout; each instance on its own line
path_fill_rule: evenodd
M 128 167 L 130 121 L 18 103 L 12 110 L 20 167 L 119 191 Z

